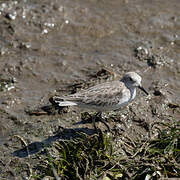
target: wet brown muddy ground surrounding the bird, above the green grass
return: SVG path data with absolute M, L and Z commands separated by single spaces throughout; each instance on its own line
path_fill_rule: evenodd
M 43 145 L 73 130 L 94 133 L 80 109 L 47 111 L 55 94 L 136 71 L 150 95 L 106 113 L 112 131 L 146 139 L 154 122 L 180 119 L 179 9 L 179 0 L 0 1 L 0 178 L 29 177 Z

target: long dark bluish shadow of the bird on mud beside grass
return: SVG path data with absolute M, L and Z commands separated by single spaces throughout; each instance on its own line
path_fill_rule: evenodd
M 43 148 L 51 145 L 56 140 L 69 140 L 73 139 L 79 136 L 79 133 L 85 133 L 87 135 L 93 135 L 95 134 L 94 129 L 89 128 L 69 128 L 65 129 L 60 127 L 58 132 L 54 136 L 49 136 L 47 139 L 41 142 L 33 142 L 29 144 L 28 146 L 16 150 L 12 153 L 13 156 L 19 157 L 19 158 L 25 158 L 30 155 L 36 154 L 40 152 Z

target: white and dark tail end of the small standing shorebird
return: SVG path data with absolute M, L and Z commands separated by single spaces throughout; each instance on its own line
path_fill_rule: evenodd
M 77 105 L 77 103 L 75 102 L 64 100 L 62 97 L 58 97 L 58 96 L 54 96 L 50 98 L 49 101 L 52 104 L 58 105 L 58 106 L 76 106 Z

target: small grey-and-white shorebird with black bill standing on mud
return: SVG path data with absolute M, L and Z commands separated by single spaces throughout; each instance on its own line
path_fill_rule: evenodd
M 101 118 L 102 112 L 117 110 L 127 105 L 135 98 L 136 88 L 148 95 L 141 85 L 141 76 L 136 72 L 128 72 L 120 80 L 101 83 L 67 96 L 54 96 L 51 102 L 53 101 L 58 106 L 78 106 L 95 110 L 98 112 L 97 115 L 100 115 L 100 121 L 110 130 L 107 123 Z M 97 129 L 95 118 L 93 118 L 93 125 Z

